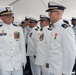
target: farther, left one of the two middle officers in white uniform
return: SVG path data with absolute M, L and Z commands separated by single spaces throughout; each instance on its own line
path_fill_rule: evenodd
M 39 34 L 39 27 L 37 26 L 38 21 L 32 17 L 30 17 L 30 24 L 29 27 L 31 28 L 28 34 L 28 47 L 27 47 L 27 55 L 30 59 L 30 65 L 33 75 L 37 75 L 36 71 L 36 47 L 37 47 L 37 39 Z

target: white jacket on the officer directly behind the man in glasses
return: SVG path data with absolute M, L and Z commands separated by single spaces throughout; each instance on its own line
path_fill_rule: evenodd
M 49 53 L 49 45 L 47 44 L 51 30 L 48 29 L 49 26 L 43 27 L 43 30 L 39 34 L 38 43 L 37 43 L 37 53 L 36 53 L 36 61 L 35 64 L 45 66 L 46 63 L 49 63 L 48 53 Z

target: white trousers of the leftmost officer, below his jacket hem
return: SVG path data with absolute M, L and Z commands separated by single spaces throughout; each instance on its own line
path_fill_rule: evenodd
M 6 71 L 0 69 L 0 75 L 23 75 L 22 67 L 19 70 Z

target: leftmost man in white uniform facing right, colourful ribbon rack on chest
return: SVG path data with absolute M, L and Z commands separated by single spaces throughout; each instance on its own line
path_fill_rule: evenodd
M 25 39 L 21 27 L 12 24 L 12 7 L 0 9 L 0 75 L 23 75 L 26 64 Z

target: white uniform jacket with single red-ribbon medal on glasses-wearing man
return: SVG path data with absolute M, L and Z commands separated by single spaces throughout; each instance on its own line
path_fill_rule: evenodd
M 75 61 L 75 36 L 71 27 L 54 23 L 50 37 L 50 72 L 52 75 L 71 75 Z

